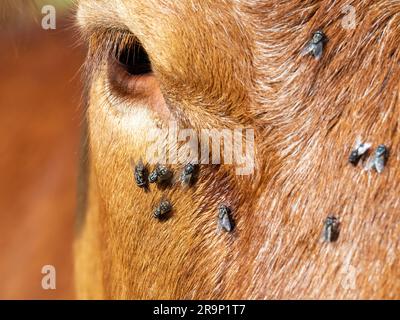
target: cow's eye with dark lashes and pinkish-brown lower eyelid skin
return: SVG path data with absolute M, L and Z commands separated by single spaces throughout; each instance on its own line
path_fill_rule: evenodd
M 151 55 L 139 40 L 126 31 L 111 31 L 101 39 L 104 43 L 100 48 L 106 54 L 100 58 L 102 66 L 106 66 L 103 95 L 110 106 L 122 112 L 145 108 L 158 120 L 169 119 L 170 111 L 153 72 Z

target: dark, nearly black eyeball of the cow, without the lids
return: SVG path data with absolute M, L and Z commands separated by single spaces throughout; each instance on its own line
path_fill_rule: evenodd
M 130 75 L 144 75 L 152 72 L 149 56 L 143 46 L 135 41 L 115 53 L 120 66 Z

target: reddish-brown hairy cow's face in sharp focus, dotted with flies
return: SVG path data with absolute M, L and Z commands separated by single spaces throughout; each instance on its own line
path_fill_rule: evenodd
M 400 298 L 398 2 L 80 0 L 76 17 L 78 298 Z M 201 162 L 184 186 L 176 161 L 148 184 L 151 128 L 171 123 L 252 130 L 254 170 Z

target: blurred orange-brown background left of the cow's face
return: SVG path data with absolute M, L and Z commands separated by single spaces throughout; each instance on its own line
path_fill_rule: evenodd
M 56 29 L 44 30 L 45 4 Z M 84 48 L 68 0 L 0 1 L 0 299 L 73 299 Z M 56 289 L 42 288 L 42 267 Z

